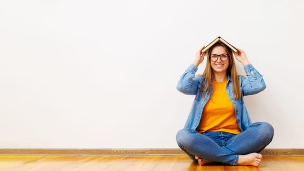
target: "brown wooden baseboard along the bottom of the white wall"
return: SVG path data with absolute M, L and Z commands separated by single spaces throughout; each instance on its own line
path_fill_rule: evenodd
M 263 155 L 304 156 L 304 149 L 264 149 Z M 0 149 L 0 155 L 185 155 L 180 149 Z

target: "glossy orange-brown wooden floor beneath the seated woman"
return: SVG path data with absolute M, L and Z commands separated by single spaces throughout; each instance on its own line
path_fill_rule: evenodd
M 198 166 L 187 155 L 0 156 L 0 171 L 304 171 L 304 156 L 263 156 L 259 168 Z

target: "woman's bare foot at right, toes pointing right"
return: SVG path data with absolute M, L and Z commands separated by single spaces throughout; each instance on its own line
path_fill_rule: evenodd
M 259 167 L 262 161 L 262 157 L 262 154 L 258 154 L 256 152 L 246 155 L 239 155 L 238 165 Z

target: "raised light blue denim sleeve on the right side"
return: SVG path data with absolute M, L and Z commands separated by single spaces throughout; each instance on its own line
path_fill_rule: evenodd
M 240 86 L 244 96 L 257 94 L 266 88 L 263 76 L 252 64 L 246 64 L 244 70 L 247 78 L 240 77 Z

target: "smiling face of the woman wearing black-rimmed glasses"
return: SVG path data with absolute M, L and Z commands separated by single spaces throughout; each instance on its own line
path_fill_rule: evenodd
M 211 51 L 211 55 L 214 55 L 214 54 L 222 55 L 222 54 L 227 54 L 227 52 L 224 47 L 217 46 L 217 47 L 214 47 Z M 227 58 L 226 61 L 222 61 L 220 59 L 220 57 L 218 56 L 217 61 L 210 60 L 210 65 L 211 65 L 214 73 L 218 73 L 218 74 L 225 73 L 226 74 L 226 70 L 229 66 L 229 57 Z

